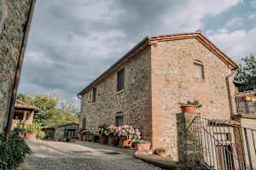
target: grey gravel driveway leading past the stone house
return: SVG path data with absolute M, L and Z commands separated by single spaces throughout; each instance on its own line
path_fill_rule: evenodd
M 133 158 L 131 150 L 85 142 L 28 140 L 32 154 L 20 170 L 160 170 Z

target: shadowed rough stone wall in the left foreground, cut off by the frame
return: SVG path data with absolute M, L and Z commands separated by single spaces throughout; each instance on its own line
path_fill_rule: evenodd
M 31 1 L 0 1 L 0 131 L 6 124 L 16 65 Z

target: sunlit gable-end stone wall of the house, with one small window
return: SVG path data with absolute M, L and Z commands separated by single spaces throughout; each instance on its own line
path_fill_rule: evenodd
M 154 147 L 164 146 L 177 161 L 177 102 L 198 99 L 202 117 L 230 120 L 225 78 L 231 71 L 195 38 L 158 42 L 151 54 L 152 142 Z M 194 78 L 195 60 L 204 66 L 205 79 Z

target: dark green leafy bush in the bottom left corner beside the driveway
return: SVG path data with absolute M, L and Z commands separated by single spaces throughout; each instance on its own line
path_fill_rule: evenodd
M 10 136 L 8 143 L 3 141 L 3 134 L 0 134 L 0 150 L 0 169 L 3 170 L 16 169 L 31 152 L 25 140 L 16 132 Z

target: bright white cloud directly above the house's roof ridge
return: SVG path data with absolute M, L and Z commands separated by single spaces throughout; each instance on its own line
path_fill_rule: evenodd
M 206 15 L 215 16 L 241 3 L 241 0 L 191 0 L 162 18 L 163 27 L 170 31 L 195 31 L 203 26 Z

